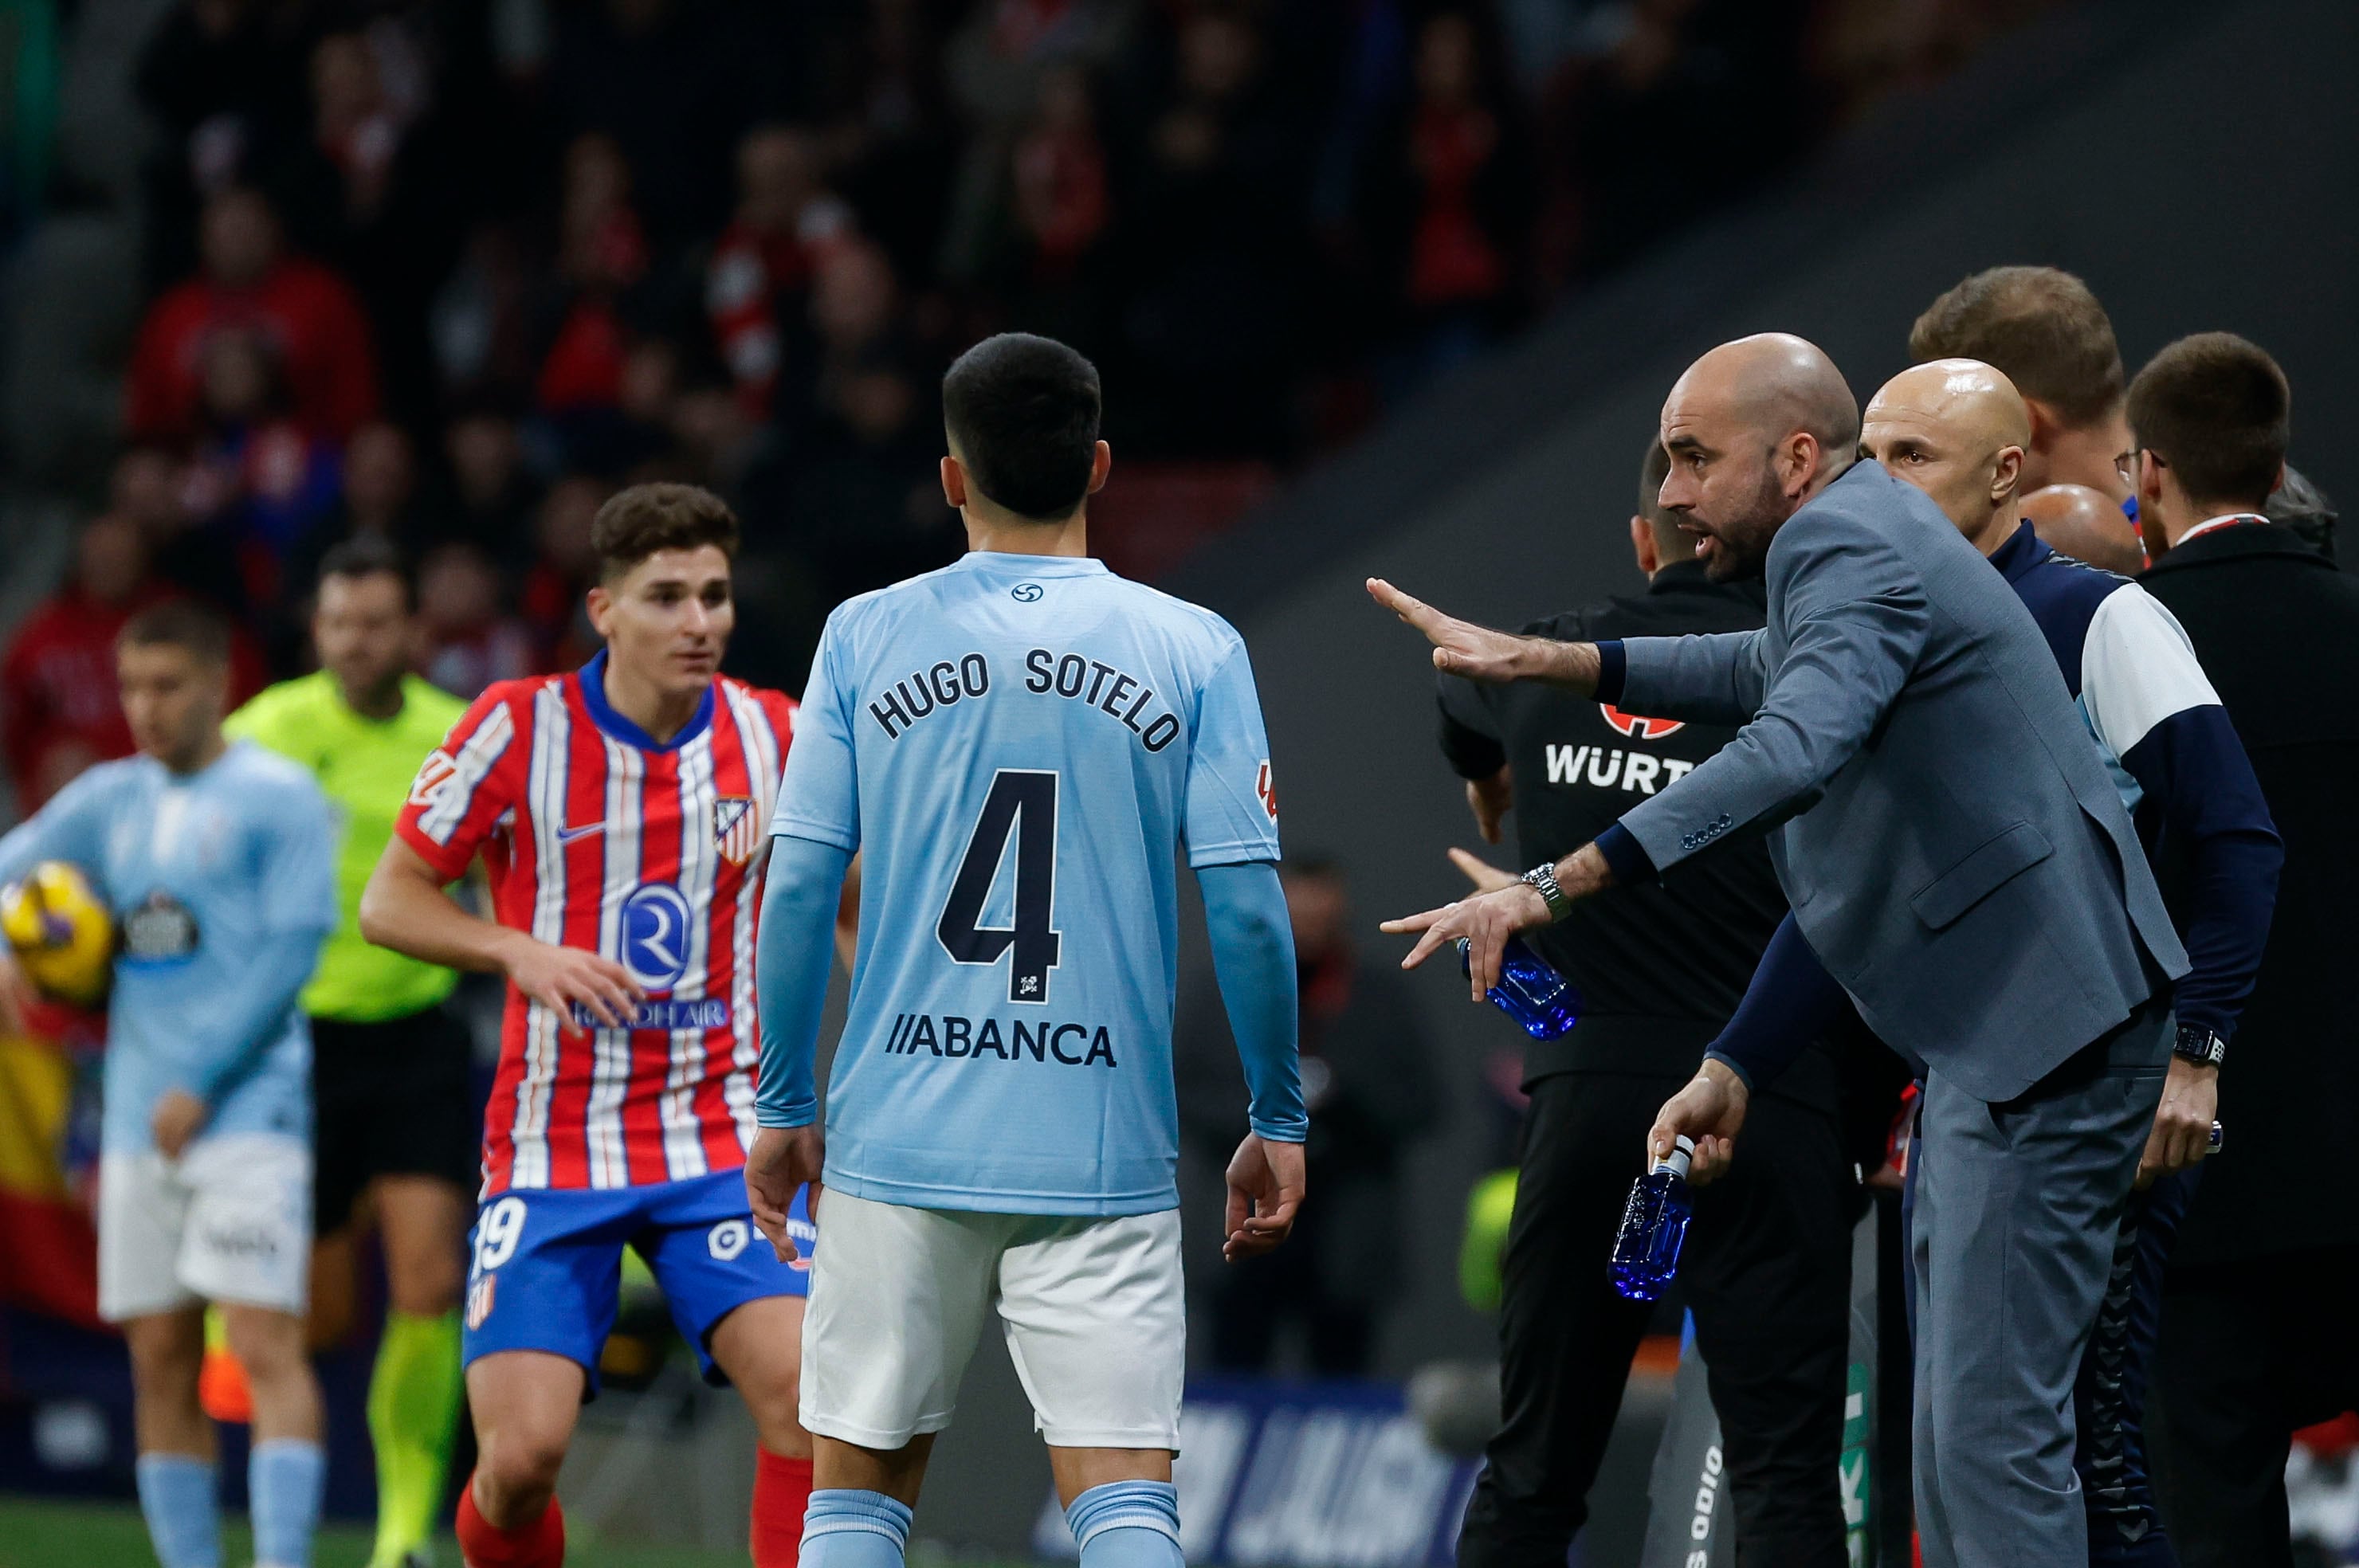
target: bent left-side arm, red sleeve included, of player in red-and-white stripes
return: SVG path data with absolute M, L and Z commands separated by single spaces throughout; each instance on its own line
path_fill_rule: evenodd
M 394 837 L 361 894 L 361 936 L 446 969 L 502 974 L 576 1028 L 576 1002 L 602 1023 L 623 1028 L 644 997 L 623 964 L 583 948 L 545 943 L 460 905 L 446 891 L 474 861 L 502 816 L 524 818 L 528 745 L 510 707 L 510 686 L 493 686 L 460 717 L 418 769 Z

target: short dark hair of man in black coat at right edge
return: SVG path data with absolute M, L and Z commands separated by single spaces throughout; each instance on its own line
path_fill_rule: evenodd
M 2182 337 L 2130 382 L 2133 439 L 2177 469 L 2187 500 L 2267 502 L 2291 415 L 2286 373 L 2234 332 Z

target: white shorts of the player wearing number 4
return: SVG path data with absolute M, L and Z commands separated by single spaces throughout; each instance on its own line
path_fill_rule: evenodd
M 1180 1450 L 1187 1299 L 1180 1210 L 972 1214 L 828 1188 L 802 1320 L 802 1424 L 894 1450 L 951 1424 L 998 1306 L 1052 1448 Z

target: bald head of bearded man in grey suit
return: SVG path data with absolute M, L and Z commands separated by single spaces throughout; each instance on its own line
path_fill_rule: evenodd
M 1663 401 L 1663 507 L 1715 580 L 1760 573 L 1788 516 L 1852 465 L 1859 403 L 1816 344 L 1790 332 L 1724 342 Z

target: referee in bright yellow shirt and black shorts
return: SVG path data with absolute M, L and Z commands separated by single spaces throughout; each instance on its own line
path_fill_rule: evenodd
M 368 1384 L 377 1450 L 370 1568 L 427 1561 L 460 1401 L 458 1297 L 474 1217 L 472 1045 L 446 1002 L 451 969 L 361 941 L 368 872 L 394 835 L 418 764 L 465 703 L 410 674 L 410 578 L 361 538 L 321 561 L 318 674 L 259 693 L 222 726 L 311 769 L 335 806 L 340 922 L 302 993 L 311 1014 L 316 1226 L 344 1231 L 363 1200 L 392 1297 Z

